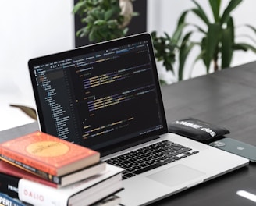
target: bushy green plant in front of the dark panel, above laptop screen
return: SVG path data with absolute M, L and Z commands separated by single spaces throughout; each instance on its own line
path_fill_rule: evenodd
M 91 42 L 112 40 L 124 37 L 133 12 L 131 1 L 123 1 L 130 4 L 128 13 L 123 12 L 119 0 L 79 0 L 73 8 L 73 13 L 80 16 L 85 24 L 76 32 L 78 37 L 88 36 Z M 127 8 L 127 7 L 126 7 Z

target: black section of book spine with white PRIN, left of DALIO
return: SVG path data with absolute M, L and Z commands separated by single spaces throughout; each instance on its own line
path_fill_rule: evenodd
M 10 197 L 18 198 L 19 197 L 19 185 L 20 178 L 9 176 L 3 173 L 0 173 L 0 191 L 4 194 L 8 194 Z

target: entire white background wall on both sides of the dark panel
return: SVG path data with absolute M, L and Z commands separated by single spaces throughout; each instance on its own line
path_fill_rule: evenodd
M 204 6 L 208 4 L 206 0 L 197 1 Z M 180 13 L 192 5 L 190 0 L 148 0 L 148 31 L 172 34 Z M 256 27 L 255 5 L 254 0 L 244 1 L 234 12 L 236 23 L 251 23 Z M 0 130 L 33 121 L 9 104 L 35 108 L 27 61 L 74 48 L 72 9 L 73 0 L 0 1 Z M 232 66 L 254 60 L 254 54 L 236 53 Z M 198 63 L 193 76 L 201 74 L 204 66 Z

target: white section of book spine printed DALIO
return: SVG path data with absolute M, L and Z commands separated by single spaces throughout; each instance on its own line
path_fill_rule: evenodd
M 66 206 L 69 195 L 61 190 L 44 186 L 27 179 L 20 179 L 19 199 L 33 205 Z

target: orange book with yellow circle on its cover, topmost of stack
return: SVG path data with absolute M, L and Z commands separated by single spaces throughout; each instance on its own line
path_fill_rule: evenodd
M 0 144 L 0 158 L 22 169 L 62 176 L 99 162 L 100 154 L 37 131 Z

